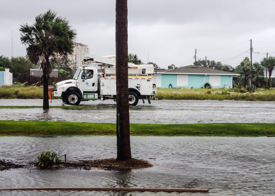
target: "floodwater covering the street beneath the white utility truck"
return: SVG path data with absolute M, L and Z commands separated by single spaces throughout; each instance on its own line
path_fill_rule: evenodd
M 0 105 L 42 106 L 42 99 L 0 99 Z M 50 105 L 60 105 L 54 99 Z M 130 123 L 275 123 L 274 101 L 151 100 L 130 107 Z M 87 109 L 0 109 L 0 120 L 116 123 L 113 100 L 82 101 Z

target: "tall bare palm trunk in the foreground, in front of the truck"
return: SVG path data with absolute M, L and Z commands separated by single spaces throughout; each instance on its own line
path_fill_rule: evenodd
M 132 159 L 130 145 L 128 88 L 128 8 L 127 0 L 115 4 L 116 53 L 116 137 L 117 160 Z

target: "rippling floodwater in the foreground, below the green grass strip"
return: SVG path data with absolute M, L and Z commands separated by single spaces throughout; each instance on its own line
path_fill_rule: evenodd
M 131 172 L 20 169 L 0 172 L 8 187 L 200 188 L 209 193 L 2 191 L 1 196 L 267 196 L 275 195 L 275 138 L 131 137 L 132 156 L 154 167 Z M 0 137 L 0 159 L 35 161 L 41 151 L 68 160 L 113 158 L 116 137 Z M 197 179 L 198 185 L 185 186 Z

